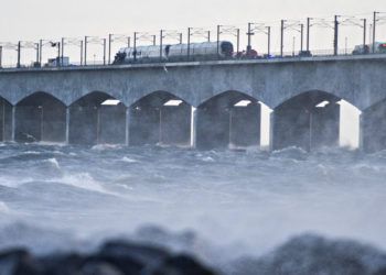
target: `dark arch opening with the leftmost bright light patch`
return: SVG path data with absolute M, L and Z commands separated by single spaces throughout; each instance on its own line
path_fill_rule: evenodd
M 103 91 L 93 91 L 68 108 L 68 143 L 125 144 L 126 106 Z

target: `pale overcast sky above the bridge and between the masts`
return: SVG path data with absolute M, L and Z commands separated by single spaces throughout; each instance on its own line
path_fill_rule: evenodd
M 108 33 L 146 31 L 158 34 L 160 29 L 181 30 L 187 26 L 211 28 L 232 24 L 246 29 L 248 22 L 272 25 L 272 51 L 279 51 L 279 20 L 304 20 L 307 16 L 331 19 L 334 14 L 372 18 L 374 10 L 386 12 L 385 0 L 1 0 L 0 41 L 57 40 L 84 35 L 107 36 Z M 386 16 L 386 13 L 384 14 Z M 371 22 L 369 22 L 371 23 Z M 386 23 L 386 20 L 385 22 Z M 245 42 L 245 30 L 242 31 Z M 214 35 L 213 35 L 214 37 Z M 333 32 L 329 29 L 311 30 L 311 47 L 332 47 Z M 224 37 L 234 40 L 234 37 Z M 200 40 L 199 37 L 196 40 Z M 386 24 L 379 25 L 377 40 L 386 40 Z M 300 47 L 300 35 L 286 32 L 285 51 Z M 347 42 L 346 42 L 347 41 Z M 142 42 L 146 44 L 146 42 Z M 358 26 L 344 26 L 340 33 L 340 47 L 362 43 Z M 264 34 L 254 37 L 258 52 L 266 50 Z M 115 45 L 118 47 L 118 45 Z M 244 46 L 244 45 L 243 45 Z M 73 50 L 75 51 L 75 50 Z M 96 50 L 96 58 L 101 58 Z M 7 57 L 7 56 L 6 56 Z M 7 62 L 7 58 L 4 61 Z M 32 58 L 32 57 L 31 57 Z

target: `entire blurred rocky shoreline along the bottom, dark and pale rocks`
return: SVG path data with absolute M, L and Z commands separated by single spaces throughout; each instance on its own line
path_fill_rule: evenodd
M 351 240 L 303 234 L 261 257 L 216 268 L 186 253 L 126 240 L 107 241 L 90 253 L 0 253 L 1 275 L 386 275 L 386 254 Z

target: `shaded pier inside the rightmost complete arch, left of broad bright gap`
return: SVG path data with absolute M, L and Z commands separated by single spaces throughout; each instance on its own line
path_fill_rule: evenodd
M 314 92 L 301 95 L 276 108 L 271 114 L 271 148 L 297 146 L 311 151 L 336 146 L 341 110 L 337 101 L 335 97 Z

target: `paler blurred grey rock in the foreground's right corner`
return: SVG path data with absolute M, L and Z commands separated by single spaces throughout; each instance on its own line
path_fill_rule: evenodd
M 354 241 L 300 235 L 229 270 L 232 275 L 386 275 L 386 254 Z

